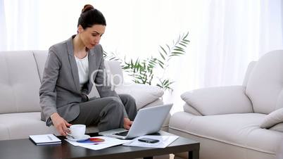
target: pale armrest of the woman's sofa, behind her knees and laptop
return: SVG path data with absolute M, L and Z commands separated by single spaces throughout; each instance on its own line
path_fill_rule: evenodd
M 124 83 L 115 87 L 115 91 L 118 94 L 130 94 L 134 97 L 137 109 L 156 101 L 156 99 L 161 98 L 164 94 L 164 91 L 160 87 L 136 83 Z

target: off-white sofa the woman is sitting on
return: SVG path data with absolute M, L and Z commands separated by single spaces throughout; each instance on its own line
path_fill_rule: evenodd
M 39 87 L 46 57 L 47 51 L 0 52 L 0 140 L 23 139 L 32 134 L 58 134 L 53 126 L 47 127 L 40 120 Z M 106 70 L 113 77 L 122 77 L 118 62 L 106 61 Z M 163 91 L 158 87 L 125 84 L 120 78 L 114 78 L 113 82 L 118 94 L 131 94 L 135 98 L 138 109 L 163 104 Z M 99 96 L 96 89 L 89 97 L 92 96 Z M 169 118 L 163 129 L 167 129 Z M 97 131 L 96 127 L 87 127 L 87 132 Z

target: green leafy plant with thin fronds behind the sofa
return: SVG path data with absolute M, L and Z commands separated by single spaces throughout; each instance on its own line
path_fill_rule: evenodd
M 157 79 L 154 84 L 161 87 L 164 91 L 172 91 L 172 79 L 166 77 L 165 71 L 169 67 L 169 61 L 177 56 L 182 56 L 186 53 L 185 49 L 189 44 L 189 32 L 179 35 L 176 41 L 173 40 L 172 45 L 165 44 L 159 46 L 158 56 L 146 59 L 130 59 L 122 60 L 115 53 L 104 52 L 104 57 L 107 60 L 120 61 L 122 69 L 125 70 L 131 77 L 132 81 L 139 84 L 153 85 L 153 79 Z M 156 70 L 162 71 L 162 75 L 156 75 Z

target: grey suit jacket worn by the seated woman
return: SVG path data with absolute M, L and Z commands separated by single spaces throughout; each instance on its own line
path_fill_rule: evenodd
M 103 84 L 103 72 L 95 71 L 105 68 L 102 47 L 97 45 L 94 49 L 89 50 L 89 82 L 84 84 L 80 90 L 77 63 L 73 53 L 73 37 L 75 35 L 51 46 L 46 59 L 39 98 L 42 120 L 46 121 L 48 126 L 52 124 L 50 115 L 53 113 L 58 113 L 67 122 L 75 120 L 80 113 L 79 103 L 82 102 L 82 94 L 89 94 L 92 90 L 91 75 L 96 84 Z M 111 86 L 96 88 L 101 97 L 116 96 L 119 98 L 118 94 L 111 90 Z M 125 111 L 124 116 L 127 117 Z

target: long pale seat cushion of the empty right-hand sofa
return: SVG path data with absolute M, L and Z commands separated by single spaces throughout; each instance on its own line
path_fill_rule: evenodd
M 261 129 L 259 125 L 264 117 L 258 113 L 196 116 L 180 112 L 172 115 L 169 127 L 234 146 L 275 153 L 282 133 Z

